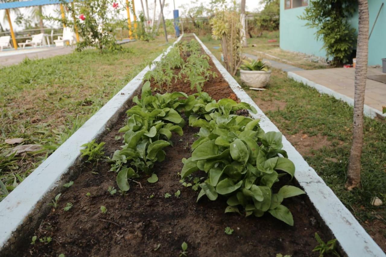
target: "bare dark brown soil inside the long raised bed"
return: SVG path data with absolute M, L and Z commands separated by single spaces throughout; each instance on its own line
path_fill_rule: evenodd
M 218 73 L 212 61 L 210 64 Z M 217 100 L 235 99 L 218 75 L 205 83 L 204 90 Z M 176 85 L 173 91 L 193 93 L 187 83 L 177 81 Z M 106 142 L 107 156 L 122 145 L 122 138 L 116 136 L 122 136 L 118 130 L 125 125 L 125 119 L 122 115 L 120 122 L 101 138 Z M 312 252 L 317 245 L 315 232 L 323 240 L 330 240 L 332 235 L 304 194 L 284 200 L 293 214 L 293 227 L 269 214 L 261 218 L 225 214 L 225 199 L 209 201 L 203 197 L 196 203 L 199 190 L 185 188 L 178 175 L 183 167 L 181 159 L 191 156 L 190 145 L 196 132 L 198 128 L 185 126 L 183 136 L 174 134 L 174 146 L 165 149 L 165 161 L 154 166 L 159 181 L 130 181 L 125 196 L 107 191 L 109 186 L 118 188 L 116 174 L 108 172 L 108 163 L 100 162 L 97 167 L 85 163 L 73 186 L 63 191 L 58 208 L 41 221 L 34 233 L 36 243 L 31 245 L 30 237 L 22 239 L 24 247 L 12 256 L 178 256 L 183 242 L 188 244 L 188 256 L 318 256 Z M 296 181 L 289 184 L 296 185 Z M 179 198 L 174 196 L 178 190 Z M 86 196 L 88 192 L 90 196 Z M 165 198 L 165 193 L 171 196 Z M 73 203 L 69 211 L 63 210 L 66 203 Z M 102 205 L 107 208 L 105 214 L 100 210 Z M 234 229 L 232 235 L 224 232 L 225 227 Z M 52 241 L 39 242 L 44 237 L 52 237 Z

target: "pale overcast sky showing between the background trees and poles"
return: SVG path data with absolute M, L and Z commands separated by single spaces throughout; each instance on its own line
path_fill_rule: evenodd
M 131 0 L 129 0 L 131 2 Z M 157 14 L 159 14 L 159 0 L 156 0 L 157 1 Z M 198 3 L 208 3 L 209 0 L 195 0 L 197 1 Z M 229 0 L 231 1 L 231 0 Z M 118 3 L 120 3 L 122 6 L 124 5 L 124 2 L 125 0 L 117 0 Z M 145 0 L 143 0 L 144 2 L 144 5 L 145 5 Z M 240 2 L 240 0 L 237 0 L 237 2 Z M 247 11 L 256 11 L 256 10 L 260 10 L 262 8 L 261 4 L 259 3 L 260 0 L 246 0 L 246 9 Z M 142 11 L 142 7 L 141 7 L 141 0 L 134 0 L 134 3 L 135 3 L 135 12 L 137 13 L 137 15 L 139 14 L 139 12 Z M 186 10 L 189 9 L 190 7 L 192 6 L 195 6 L 196 4 L 192 4 L 192 0 L 174 0 L 174 3 L 176 5 L 176 8 L 180 10 L 180 16 L 183 15 L 181 12 L 181 6 L 183 6 Z M 154 10 L 154 0 L 148 0 L 148 4 L 149 4 L 149 16 L 152 18 L 153 16 L 153 10 Z M 144 6 L 144 8 L 146 9 L 146 5 Z M 165 8 L 164 8 L 164 15 L 165 15 L 165 19 L 172 19 L 173 18 L 173 0 L 165 0 Z M 23 13 L 23 14 L 27 14 L 28 15 L 28 11 L 25 10 L 25 8 L 20 8 L 20 11 Z M 43 7 L 43 14 L 44 15 L 59 15 L 59 6 L 58 5 L 46 5 Z M 4 28 L 7 28 L 9 29 L 9 26 L 8 26 L 8 22 L 6 22 L 4 19 L 4 16 L 5 16 L 5 10 L 0 10 L 0 22 L 1 24 L 3 25 Z M 120 14 L 121 18 L 126 18 L 126 13 L 125 12 L 121 12 Z M 11 20 L 12 20 L 12 25 L 14 27 L 14 30 L 20 30 L 22 29 L 21 27 L 17 26 L 14 22 L 16 18 L 16 15 L 14 13 L 11 12 Z M 133 19 L 133 17 L 131 17 L 131 19 Z M 157 19 L 157 15 L 156 15 L 156 19 Z M 45 21 L 44 22 L 44 25 L 46 25 L 47 27 L 51 27 L 51 23 L 50 22 L 47 22 Z M 59 26 L 59 25 L 56 25 L 56 26 Z

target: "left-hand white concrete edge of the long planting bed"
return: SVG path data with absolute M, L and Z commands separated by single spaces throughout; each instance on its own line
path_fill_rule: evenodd
M 174 44 L 154 59 L 154 62 L 161 60 Z M 80 146 L 103 133 L 110 119 L 124 107 L 127 101 L 134 96 L 135 91 L 142 86 L 142 79 L 147 71 L 154 68 L 155 65 L 152 65 L 151 68 L 149 66 L 144 68 L 0 202 L 0 250 L 12 237 L 12 233 L 32 213 L 37 203 L 58 185 L 62 175 L 66 174 L 76 159 L 80 157 Z

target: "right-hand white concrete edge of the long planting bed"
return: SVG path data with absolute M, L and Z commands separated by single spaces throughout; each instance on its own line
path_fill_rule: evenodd
M 241 88 L 235 79 L 228 73 L 216 57 L 195 35 L 198 42 L 210 56 L 216 68 L 224 79 L 229 83 L 240 101 L 254 106 L 257 115 L 251 113 L 252 117 L 260 118 L 260 125 L 264 131 L 277 131 L 278 128 L 264 115 L 256 103 Z M 315 170 L 308 165 L 300 153 L 283 136 L 283 149 L 288 153 L 288 158 L 295 164 L 295 178 L 305 190 L 323 221 L 330 228 L 339 241 L 342 249 L 348 256 L 386 256 L 383 250 L 372 240 L 366 230 L 359 224 L 349 210 L 337 198 L 334 192 L 324 183 Z M 296 224 L 295 224 L 296 226 Z

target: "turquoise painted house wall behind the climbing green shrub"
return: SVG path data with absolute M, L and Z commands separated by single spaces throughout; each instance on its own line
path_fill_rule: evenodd
M 386 58 L 386 0 L 369 1 L 369 30 L 382 3 L 384 5 L 369 40 L 369 66 L 381 65 L 381 59 Z M 284 0 L 280 1 L 280 48 L 326 57 L 326 51 L 321 49 L 322 41 L 315 38 L 316 29 L 305 27 L 306 21 L 298 18 L 303 14 L 304 8 L 284 10 Z M 349 22 L 352 27 L 358 29 L 358 14 L 354 14 Z

